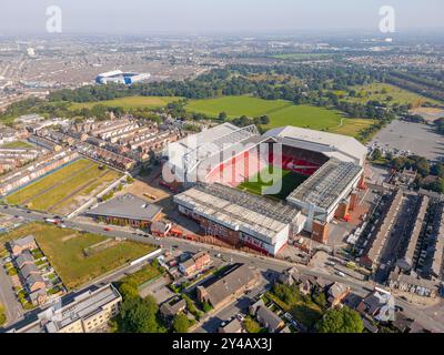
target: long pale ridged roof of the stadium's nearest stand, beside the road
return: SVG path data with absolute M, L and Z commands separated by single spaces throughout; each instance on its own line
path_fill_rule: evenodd
M 286 203 L 221 184 L 198 184 L 175 195 L 174 202 L 232 230 L 252 233 L 269 244 L 273 244 L 275 235 L 300 214 L 296 207 Z

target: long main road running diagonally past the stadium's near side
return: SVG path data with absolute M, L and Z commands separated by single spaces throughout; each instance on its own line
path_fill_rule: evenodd
M 26 211 L 17 207 L 8 207 L 4 210 L 0 210 L 4 214 L 21 216 L 29 221 L 43 221 L 46 217 L 53 217 L 53 215 Z M 91 233 L 101 234 L 109 237 L 125 237 L 128 240 L 139 242 L 139 243 L 148 243 L 153 245 L 159 245 L 165 250 L 169 248 L 179 248 L 182 252 L 191 252 L 196 253 L 199 251 L 206 251 L 213 257 L 216 257 L 218 254 L 221 254 L 222 258 L 225 261 L 231 261 L 233 263 L 244 263 L 252 267 L 255 267 L 263 272 L 274 272 L 282 273 L 284 270 L 289 267 L 294 267 L 305 275 L 319 276 L 326 278 L 331 282 L 341 282 L 350 286 L 351 291 L 360 296 L 365 296 L 374 288 L 374 284 L 371 282 L 363 282 L 357 280 L 352 280 L 351 277 L 343 278 L 335 274 L 329 273 L 327 268 L 320 271 L 314 270 L 310 266 L 303 266 L 300 264 L 293 264 L 286 261 L 259 256 L 253 254 L 248 254 L 240 251 L 228 250 L 219 246 L 200 244 L 192 241 L 185 241 L 180 239 L 165 237 L 162 240 L 157 240 L 152 236 L 140 236 L 135 235 L 133 232 L 129 232 L 123 229 L 112 227 L 109 232 L 103 230 L 103 225 L 94 224 L 94 223 L 84 223 L 79 222 L 77 220 L 70 220 L 64 223 L 68 227 L 75 229 L 79 231 L 85 231 Z M 417 320 L 424 327 L 444 333 L 444 324 L 442 322 L 437 322 L 433 315 L 431 316 L 426 310 L 415 306 L 400 297 L 396 298 L 396 304 L 404 308 L 404 314 L 411 318 Z M 7 305 L 6 305 L 7 306 Z

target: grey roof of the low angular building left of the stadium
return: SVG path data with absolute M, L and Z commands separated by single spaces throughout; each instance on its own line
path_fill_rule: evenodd
M 130 219 L 140 221 L 153 221 L 162 207 L 151 204 L 133 194 L 124 194 L 100 204 L 88 211 L 88 215 Z

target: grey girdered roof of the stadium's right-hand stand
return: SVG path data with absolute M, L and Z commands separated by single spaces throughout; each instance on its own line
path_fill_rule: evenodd
M 310 203 L 329 210 L 341 199 L 346 187 L 361 176 L 362 170 L 362 166 L 354 163 L 331 159 L 294 190 L 287 201 Z

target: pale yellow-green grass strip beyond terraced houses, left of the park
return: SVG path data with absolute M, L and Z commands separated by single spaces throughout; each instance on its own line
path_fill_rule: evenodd
M 178 101 L 180 98 L 174 97 L 128 97 L 121 99 L 105 100 L 105 101 L 90 101 L 90 102 L 74 102 L 71 104 L 71 109 L 92 109 L 97 104 L 101 104 L 104 106 L 120 106 L 124 109 L 131 108 L 161 108 L 170 102 Z

